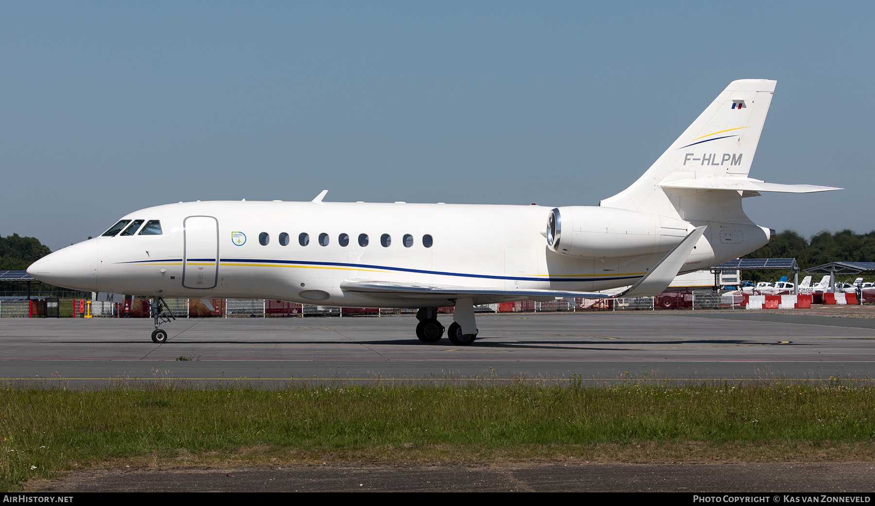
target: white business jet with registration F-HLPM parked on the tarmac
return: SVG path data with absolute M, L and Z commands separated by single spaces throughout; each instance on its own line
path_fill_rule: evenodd
M 27 270 L 52 285 L 151 298 L 277 299 L 419 308 L 416 336 L 471 344 L 473 306 L 523 299 L 653 296 L 679 272 L 760 248 L 774 230 L 742 210 L 761 192 L 830 186 L 748 177 L 775 81 L 734 81 L 632 186 L 598 207 L 212 201 L 149 207 Z

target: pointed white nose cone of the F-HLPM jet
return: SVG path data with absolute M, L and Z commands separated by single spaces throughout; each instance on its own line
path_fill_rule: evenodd
M 27 268 L 27 273 L 50 285 L 95 292 L 97 290 L 97 241 L 89 239 L 59 249 L 31 264 Z

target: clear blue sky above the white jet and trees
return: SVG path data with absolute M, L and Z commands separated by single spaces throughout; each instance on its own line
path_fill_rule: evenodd
M 774 79 L 745 200 L 875 228 L 872 3 L 6 2 L 0 235 L 179 200 L 595 205 L 736 79 Z

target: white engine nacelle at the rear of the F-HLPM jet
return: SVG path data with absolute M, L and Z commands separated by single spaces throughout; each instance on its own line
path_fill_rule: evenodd
M 690 223 L 616 207 L 556 207 L 547 219 L 547 245 L 579 258 L 641 257 L 670 251 Z

